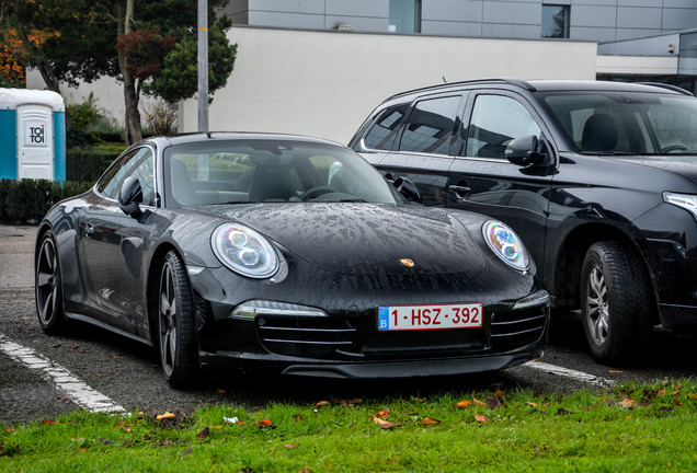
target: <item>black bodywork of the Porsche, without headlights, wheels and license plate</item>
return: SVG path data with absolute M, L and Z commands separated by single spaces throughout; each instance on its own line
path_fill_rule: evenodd
M 243 169 L 247 164 L 239 150 L 215 171 L 240 168 L 229 188 L 221 181 L 192 178 L 195 193 L 187 197 L 175 193 L 170 160 L 196 163 L 190 148 L 180 155 L 178 147 L 201 143 L 205 149 L 213 143 L 221 152 L 226 142 L 240 141 L 245 142 L 243 149 L 253 149 L 250 155 L 264 160 L 285 159 L 293 147 L 296 151 L 317 147 L 323 153 L 310 158 L 316 161 L 340 152 L 347 157 L 342 158 L 347 160 L 342 161 L 344 166 L 359 162 L 358 168 L 375 174 L 370 178 L 380 183 L 382 195 L 392 197 L 356 201 L 363 198 L 329 189 L 329 197 L 300 201 L 298 191 L 290 201 L 272 198 L 226 204 L 222 199 L 244 194 L 241 183 L 256 172 L 254 166 Z M 274 143 L 281 143 L 278 149 Z M 260 150 L 265 146 L 273 152 Z M 150 158 L 121 175 L 119 166 L 126 169 L 139 153 Z M 222 159 L 221 154 L 210 155 Z M 294 163 L 300 172 L 294 182 L 302 181 L 306 187 L 312 187 L 306 181 L 327 172 L 319 166 L 304 175 L 305 161 Z M 287 164 L 282 164 L 279 169 L 287 171 Z M 256 162 L 256 166 L 262 164 Z M 339 172 L 341 169 L 334 175 Z M 332 173 L 330 170 L 329 181 Z M 142 189 L 129 187 L 129 196 L 119 197 L 128 201 L 119 203 L 110 180 L 121 175 L 123 181 L 125 174 L 136 176 L 138 185 L 142 181 Z M 194 197 L 210 200 L 212 196 L 221 200 L 179 204 Z M 141 201 L 134 205 L 134 199 Z M 157 346 L 167 332 L 158 325 L 158 311 L 167 309 L 163 267 L 167 255 L 175 254 L 186 269 L 184 289 L 191 288 L 191 312 L 202 354 L 305 376 L 427 376 L 502 369 L 538 356 L 546 337 L 549 300 L 534 264 L 516 270 L 490 250 L 482 234 L 488 221 L 489 217 L 477 214 L 401 201 L 375 170 L 335 143 L 243 134 L 153 138 L 125 151 L 94 188 L 59 203 L 46 215 L 37 236 L 37 280 L 45 242 L 53 234 L 66 318 Z M 253 229 L 270 242 L 277 269 L 268 276 L 248 277 L 224 264 L 214 247 L 216 229 L 226 224 Z M 42 295 L 37 289 L 37 301 Z M 240 309 L 254 301 L 271 309 L 260 309 L 252 316 Z M 482 304 L 481 326 L 378 330 L 378 307 L 465 302 Z M 41 308 L 45 304 L 39 305 L 44 324 Z

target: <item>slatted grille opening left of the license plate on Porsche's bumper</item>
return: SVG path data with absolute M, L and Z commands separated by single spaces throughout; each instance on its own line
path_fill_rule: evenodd
M 351 347 L 356 330 L 346 320 L 329 318 L 256 318 L 264 347 L 278 355 L 324 357 Z

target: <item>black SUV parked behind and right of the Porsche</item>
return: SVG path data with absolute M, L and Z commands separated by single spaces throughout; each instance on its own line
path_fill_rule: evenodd
M 350 146 L 426 206 L 509 223 L 606 364 L 697 327 L 697 99 L 663 84 L 477 80 L 386 100 Z

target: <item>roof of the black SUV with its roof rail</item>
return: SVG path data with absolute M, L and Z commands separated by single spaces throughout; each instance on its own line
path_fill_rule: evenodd
M 546 92 L 546 91 L 618 91 L 618 92 L 652 92 L 692 95 L 688 91 L 675 85 L 663 83 L 632 83 L 632 82 L 613 82 L 613 81 L 593 81 L 593 80 L 530 80 L 511 78 L 492 78 L 492 79 L 472 79 L 459 82 L 449 82 L 435 84 L 410 91 L 400 92 L 385 100 L 390 102 L 395 99 L 407 97 L 409 95 L 418 95 L 427 92 L 448 92 L 459 91 L 462 88 L 472 85 L 484 86 L 504 86 L 507 89 L 518 88 L 528 92 Z

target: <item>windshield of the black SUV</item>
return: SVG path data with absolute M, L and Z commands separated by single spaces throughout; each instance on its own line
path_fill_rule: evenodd
M 595 91 L 540 95 L 580 152 L 697 154 L 695 97 Z

